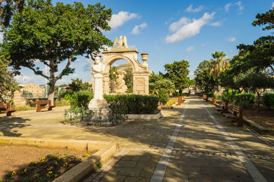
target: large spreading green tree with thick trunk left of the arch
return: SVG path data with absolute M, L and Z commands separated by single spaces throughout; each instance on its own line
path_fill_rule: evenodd
M 55 83 L 74 72 L 70 66 L 75 56 L 94 55 L 103 45 L 110 46 L 101 31 L 110 30 L 111 12 L 100 3 L 85 8 L 78 2 L 53 6 L 51 0 L 28 0 L 23 12 L 14 12 L 1 49 L 12 60 L 14 70 L 19 72 L 23 66 L 49 80 L 49 100 L 53 102 Z M 43 74 L 36 62 L 49 66 L 50 75 Z M 66 66 L 60 70 L 62 62 Z

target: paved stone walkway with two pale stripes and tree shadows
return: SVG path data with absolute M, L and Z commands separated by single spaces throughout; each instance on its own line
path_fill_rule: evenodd
M 210 103 L 192 96 L 163 112 L 161 120 L 92 127 L 62 125 L 56 109 L 0 118 L 0 135 L 119 142 L 121 150 L 84 181 L 273 181 L 274 148 L 229 125 Z

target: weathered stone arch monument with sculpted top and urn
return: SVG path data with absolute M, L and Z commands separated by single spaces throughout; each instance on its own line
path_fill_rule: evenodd
M 118 44 L 118 46 L 116 46 Z M 116 47 L 115 47 L 116 46 Z M 103 93 L 110 93 L 110 66 L 116 60 L 127 60 L 132 66 L 133 75 L 133 93 L 134 94 L 149 94 L 149 67 L 147 65 L 148 53 L 142 53 L 142 64 L 138 62 L 137 49 L 129 49 L 127 47 L 127 38 L 120 36 L 115 38 L 114 44 L 110 51 L 103 51 Z

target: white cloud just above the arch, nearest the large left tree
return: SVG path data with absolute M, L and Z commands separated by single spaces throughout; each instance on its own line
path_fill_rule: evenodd
M 120 27 L 126 21 L 129 21 L 133 18 L 138 18 L 138 14 L 121 11 L 118 14 L 112 14 L 111 21 L 108 23 L 108 25 L 115 29 L 116 27 Z

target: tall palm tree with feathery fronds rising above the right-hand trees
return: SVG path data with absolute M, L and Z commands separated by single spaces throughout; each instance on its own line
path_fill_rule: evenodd
M 212 68 L 210 70 L 210 75 L 214 75 L 216 77 L 219 77 L 220 73 L 229 68 L 229 60 L 230 58 L 225 58 L 225 55 L 227 55 L 223 51 L 215 51 L 211 54 L 211 56 L 216 60 L 211 60 Z M 218 92 L 221 92 L 221 86 L 218 86 Z

